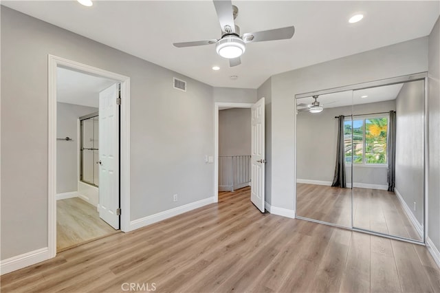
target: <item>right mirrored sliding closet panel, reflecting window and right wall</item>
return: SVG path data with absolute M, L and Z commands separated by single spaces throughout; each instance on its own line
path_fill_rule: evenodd
M 353 91 L 344 124 L 353 227 L 423 241 L 424 81 Z

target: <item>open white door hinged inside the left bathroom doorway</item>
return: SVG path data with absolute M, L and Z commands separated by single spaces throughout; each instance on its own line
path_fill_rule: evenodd
M 99 93 L 99 216 L 119 229 L 119 84 Z

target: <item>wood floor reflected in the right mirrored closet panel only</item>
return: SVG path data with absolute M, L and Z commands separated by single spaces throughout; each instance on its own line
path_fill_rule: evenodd
M 422 241 L 397 195 L 389 191 L 353 188 L 353 227 Z

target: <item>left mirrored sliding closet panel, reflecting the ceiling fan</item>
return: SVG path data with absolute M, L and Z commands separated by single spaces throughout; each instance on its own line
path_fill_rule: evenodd
M 345 173 L 345 182 L 351 184 L 351 176 L 347 176 L 347 173 L 351 174 L 351 169 L 347 171 L 347 168 L 341 165 L 338 172 L 335 170 L 338 131 L 344 132 L 342 127 L 338 127 L 338 119 L 335 119 L 335 116 L 351 116 L 352 96 L 353 91 L 340 91 L 296 100 L 296 215 L 298 217 L 352 227 L 351 188 L 338 184 L 331 187 L 335 173 L 342 176 Z M 349 138 L 351 139 L 351 135 Z M 344 133 L 340 146 L 344 147 Z

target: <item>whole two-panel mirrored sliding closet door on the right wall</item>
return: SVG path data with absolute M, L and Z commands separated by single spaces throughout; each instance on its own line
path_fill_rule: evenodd
M 425 80 L 296 97 L 298 218 L 424 242 Z

